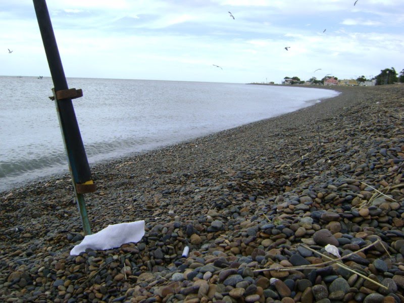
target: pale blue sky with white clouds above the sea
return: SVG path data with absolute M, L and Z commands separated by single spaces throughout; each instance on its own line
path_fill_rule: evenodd
M 403 0 L 46 3 L 66 77 L 280 83 L 404 69 Z M 0 75 L 50 76 L 32 1 L 0 0 L 0 45 Z

